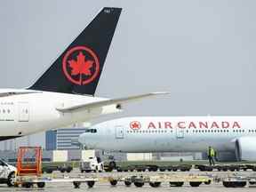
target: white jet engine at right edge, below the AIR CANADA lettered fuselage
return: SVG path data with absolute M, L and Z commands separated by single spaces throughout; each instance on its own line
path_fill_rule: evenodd
M 236 140 L 236 157 L 240 161 L 256 160 L 256 137 L 241 137 Z

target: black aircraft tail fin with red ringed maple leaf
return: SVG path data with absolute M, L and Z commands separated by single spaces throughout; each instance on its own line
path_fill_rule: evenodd
M 103 8 L 28 89 L 94 95 L 121 8 Z

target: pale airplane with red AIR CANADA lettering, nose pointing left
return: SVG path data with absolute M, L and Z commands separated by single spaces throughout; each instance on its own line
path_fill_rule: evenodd
M 87 148 L 121 152 L 235 151 L 256 160 L 256 116 L 138 116 L 95 124 L 79 136 Z

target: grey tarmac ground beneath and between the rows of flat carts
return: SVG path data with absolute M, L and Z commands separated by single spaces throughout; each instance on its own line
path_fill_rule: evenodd
M 145 172 L 146 174 L 156 174 L 156 173 L 160 173 L 160 172 Z M 164 173 L 170 173 L 170 172 L 164 172 Z M 172 172 L 173 173 L 173 172 Z M 192 172 L 175 172 L 175 174 L 204 174 L 205 172 L 198 172 L 196 170 L 193 170 Z M 234 172 L 209 172 L 210 174 L 213 175 L 227 175 L 227 174 L 233 174 Z M 240 173 L 240 172 L 236 172 L 236 173 Z M 247 171 L 247 172 L 243 172 L 241 171 L 241 173 L 243 175 L 250 175 L 253 172 L 251 171 Z M 63 176 L 62 173 L 60 172 L 54 172 L 55 176 Z M 78 170 L 75 170 L 71 173 L 66 173 L 65 175 L 78 175 L 81 174 Z M 85 173 L 84 173 L 85 174 Z M 96 175 L 97 173 L 93 173 L 92 175 Z M 111 175 L 115 175 L 115 174 L 120 174 L 118 172 L 112 172 L 110 173 Z M 128 175 L 128 174 L 136 174 L 136 172 L 122 172 L 121 174 L 123 175 Z M 141 173 L 140 173 L 141 174 Z M 144 173 L 143 173 L 144 174 Z M 108 176 L 109 173 L 98 173 L 98 176 Z M 46 176 L 46 175 L 45 175 Z M 49 175 L 47 175 L 49 176 Z M 248 185 L 244 188 L 225 188 L 222 185 L 222 182 L 213 182 L 211 185 L 200 185 L 197 188 L 192 188 L 190 187 L 190 185 L 188 183 L 185 182 L 185 184 L 183 185 L 183 187 L 170 187 L 168 182 L 163 182 L 161 184 L 161 186 L 159 188 L 152 188 L 148 185 L 148 183 L 145 183 L 145 185 L 142 188 L 137 188 L 135 187 L 133 184 L 131 185 L 131 187 L 126 187 L 124 185 L 124 182 L 118 182 L 117 185 L 115 187 L 112 187 L 108 182 L 96 182 L 93 188 L 88 188 L 86 183 L 82 183 L 80 188 L 74 188 L 72 183 L 68 183 L 68 182 L 59 182 L 59 183 L 46 183 L 45 188 L 8 188 L 6 187 L 6 185 L 1 184 L 0 185 L 0 191 L 49 191 L 49 192 L 70 192 L 70 191 L 92 191 L 92 192 L 150 192 L 150 191 L 173 191 L 175 190 L 175 192 L 185 192 L 185 191 L 189 191 L 189 192 L 228 192 L 228 191 L 234 191 L 234 192 L 245 192 L 245 191 L 256 191 L 256 187 L 249 187 Z

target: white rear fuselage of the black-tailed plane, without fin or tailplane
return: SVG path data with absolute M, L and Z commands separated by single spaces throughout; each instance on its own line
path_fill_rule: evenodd
M 17 90 L 13 89 L 13 92 L 15 91 Z M 5 90 L 1 89 L 0 92 Z M 10 89 L 6 92 L 10 92 Z M 107 99 L 58 92 L 36 92 L 0 97 L 0 138 L 43 132 L 118 111 L 114 105 L 88 110 L 77 109 L 67 113 L 56 109 L 100 100 Z

